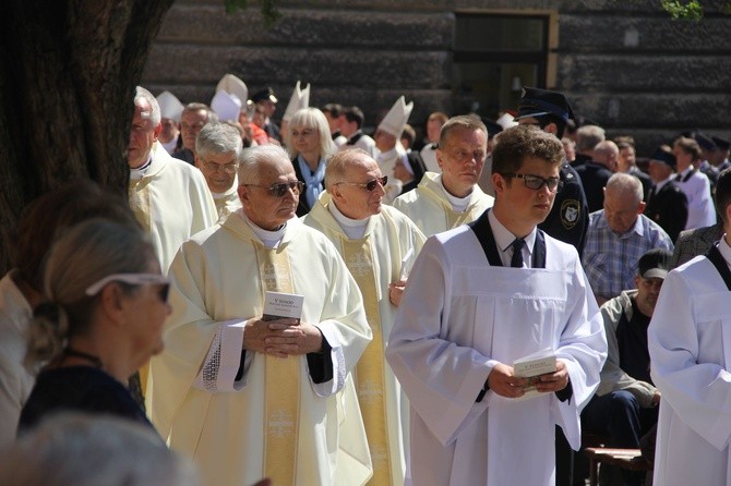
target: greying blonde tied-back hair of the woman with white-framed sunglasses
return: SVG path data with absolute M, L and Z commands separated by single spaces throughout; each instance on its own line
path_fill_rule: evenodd
M 87 332 L 97 296 L 86 295 L 94 282 L 112 274 L 146 272 L 153 246 L 141 229 L 94 218 L 68 230 L 53 244 L 44 272 L 45 302 L 29 328 L 26 365 L 56 357 L 65 341 Z M 132 292 L 130 285 L 120 285 Z

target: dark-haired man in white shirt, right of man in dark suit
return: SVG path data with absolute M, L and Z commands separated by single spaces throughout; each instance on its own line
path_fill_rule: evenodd
M 716 209 L 710 194 L 708 177 L 695 166 L 700 161 L 700 147 L 693 138 L 675 138 L 672 153 L 678 161 L 675 183 L 687 196 L 686 230 L 707 227 L 716 222 Z

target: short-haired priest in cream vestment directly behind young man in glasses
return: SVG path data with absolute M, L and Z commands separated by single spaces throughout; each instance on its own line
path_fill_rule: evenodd
M 426 236 L 475 221 L 494 202 L 477 185 L 487 151 L 488 129 L 479 118 L 451 118 L 436 149 L 441 173 L 424 173 L 418 187 L 398 196 L 394 207 Z

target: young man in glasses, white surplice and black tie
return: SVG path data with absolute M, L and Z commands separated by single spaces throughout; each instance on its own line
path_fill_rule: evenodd
M 386 348 L 411 404 L 415 485 L 553 485 L 555 425 L 580 446 L 607 339 L 576 250 L 537 229 L 562 157 L 536 127 L 502 132 L 494 207 L 430 238 L 417 258 Z M 556 370 L 524 397 L 513 363 L 547 349 Z

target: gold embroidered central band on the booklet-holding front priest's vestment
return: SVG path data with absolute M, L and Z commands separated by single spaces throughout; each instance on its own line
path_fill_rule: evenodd
M 253 242 L 263 290 L 292 293 L 291 266 L 285 248 Z M 263 301 L 262 295 L 262 301 Z M 264 476 L 272 484 L 296 483 L 299 429 L 300 357 L 265 356 Z M 245 432 L 244 432 L 245 433 Z

